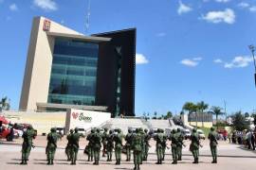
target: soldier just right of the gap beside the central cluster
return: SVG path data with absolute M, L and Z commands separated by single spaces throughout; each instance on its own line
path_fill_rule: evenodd
M 162 130 L 160 128 L 157 129 L 157 134 L 155 135 L 155 141 L 156 141 L 156 155 L 157 155 L 157 162 L 155 164 L 162 164 L 162 158 L 163 158 L 163 154 L 162 154 L 162 151 L 163 151 L 163 133 L 162 133 Z

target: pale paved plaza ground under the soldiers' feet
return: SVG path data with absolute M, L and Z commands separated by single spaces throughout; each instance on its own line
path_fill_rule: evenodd
M 64 155 L 64 145 L 66 141 L 63 140 L 59 142 L 60 147 L 58 147 L 56 153 L 55 165 L 46 165 L 46 154 L 45 145 L 46 137 L 38 137 L 34 144 L 35 148 L 32 149 L 28 165 L 19 165 L 21 158 L 21 141 L 18 140 L 15 143 L 1 143 L 0 144 L 0 169 L 10 169 L 10 170 L 23 170 L 23 169 L 35 169 L 35 170 L 46 170 L 46 169 L 98 169 L 98 170 L 110 170 L 110 169 L 133 169 L 133 161 L 124 161 L 126 159 L 125 155 L 122 155 L 122 161 L 120 165 L 115 165 L 115 161 L 108 162 L 106 158 L 101 158 L 100 165 L 93 165 L 92 162 L 88 162 L 87 156 L 83 155 L 83 148 L 86 144 L 85 140 L 81 140 L 81 150 L 78 156 L 77 165 L 70 165 L 66 161 Z M 256 168 L 256 152 L 245 149 L 241 145 L 229 144 L 228 142 L 220 142 L 218 147 L 218 164 L 212 164 L 210 157 L 210 147 L 209 141 L 206 140 L 202 142 L 204 145 L 200 148 L 200 163 L 192 164 L 192 154 L 189 151 L 190 141 L 186 142 L 186 147 L 183 148 L 183 161 L 178 161 L 178 164 L 171 164 L 172 155 L 171 151 L 167 150 L 166 161 L 162 165 L 156 165 L 156 155 L 155 155 L 155 143 L 151 142 L 152 147 L 150 148 L 149 161 L 144 162 L 141 165 L 141 169 L 153 170 L 155 168 L 160 168 L 161 170 L 179 169 L 179 170 L 249 170 Z M 170 146 L 170 144 L 169 144 Z M 114 156 L 114 155 L 113 155 Z M 115 156 L 114 156 L 115 158 Z

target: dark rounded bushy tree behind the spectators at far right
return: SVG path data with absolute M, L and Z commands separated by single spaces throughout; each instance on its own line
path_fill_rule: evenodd
M 246 116 L 241 111 L 237 111 L 232 117 L 232 127 L 236 130 L 242 131 L 249 126 L 246 121 Z

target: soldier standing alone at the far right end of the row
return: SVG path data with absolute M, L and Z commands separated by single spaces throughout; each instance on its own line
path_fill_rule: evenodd
M 211 163 L 217 163 L 217 133 L 213 127 L 210 127 L 210 133 L 208 135 L 208 139 L 210 140 L 210 152 L 212 156 Z

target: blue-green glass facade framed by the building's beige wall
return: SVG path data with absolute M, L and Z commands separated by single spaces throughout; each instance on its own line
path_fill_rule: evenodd
M 48 103 L 94 105 L 99 44 L 55 40 Z

